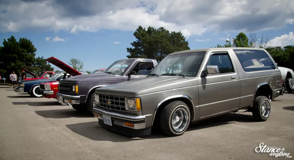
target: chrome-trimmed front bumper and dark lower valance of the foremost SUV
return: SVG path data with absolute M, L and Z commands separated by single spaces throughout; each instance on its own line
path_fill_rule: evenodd
M 98 118 L 98 123 L 108 130 L 129 136 L 151 134 L 151 128 L 146 128 L 145 116 L 127 116 L 96 107 L 92 111 L 94 116 Z

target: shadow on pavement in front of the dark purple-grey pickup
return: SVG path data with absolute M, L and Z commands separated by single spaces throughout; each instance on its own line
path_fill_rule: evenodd
M 90 115 L 89 111 L 79 112 L 75 109 L 54 109 L 54 110 L 43 110 L 43 111 L 35 111 L 35 113 L 39 116 L 45 118 L 90 118 L 94 117 Z

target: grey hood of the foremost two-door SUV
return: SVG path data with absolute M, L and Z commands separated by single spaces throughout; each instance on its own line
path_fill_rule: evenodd
M 163 90 L 185 87 L 191 78 L 183 77 L 147 77 L 136 81 L 127 81 L 96 89 L 97 92 L 141 95 Z M 193 77 L 194 79 L 194 77 Z M 197 82 L 197 81 L 196 81 Z

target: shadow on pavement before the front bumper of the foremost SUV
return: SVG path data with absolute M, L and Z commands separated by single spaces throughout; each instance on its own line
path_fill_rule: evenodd
M 86 138 L 95 140 L 95 141 L 111 141 L 111 142 L 128 142 L 134 140 L 143 140 L 143 139 L 132 139 L 131 137 L 117 134 L 115 132 L 108 131 L 107 129 L 102 128 L 97 121 L 94 122 L 85 122 L 78 124 L 68 124 L 66 125 L 74 133 L 82 135 Z

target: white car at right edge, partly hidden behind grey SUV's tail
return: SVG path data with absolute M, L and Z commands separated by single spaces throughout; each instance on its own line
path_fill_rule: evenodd
M 287 89 L 288 93 L 292 93 L 294 91 L 294 72 L 293 70 L 285 67 L 279 67 L 282 74 L 283 84 L 282 86 Z

